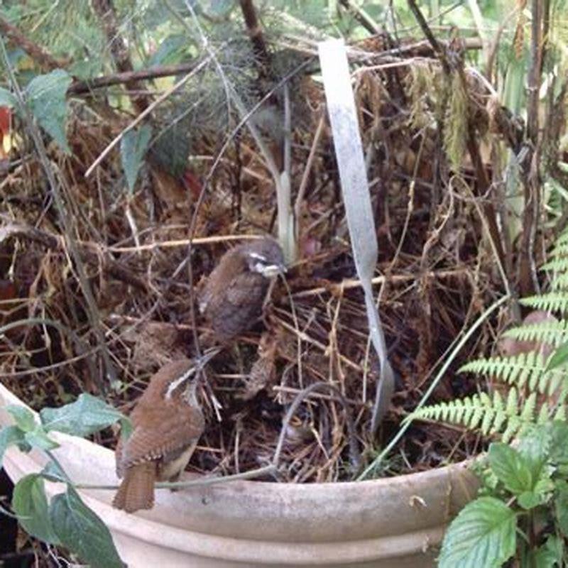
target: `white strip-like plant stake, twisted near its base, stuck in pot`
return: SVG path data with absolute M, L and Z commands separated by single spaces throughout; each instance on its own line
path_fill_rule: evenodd
M 393 369 L 388 362 L 383 327 L 371 286 L 378 256 L 375 222 L 345 45 L 343 40 L 327 40 L 318 44 L 318 50 L 335 155 L 339 165 L 339 178 L 342 182 L 347 226 L 351 236 L 351 249 L 357 275 L 365 293 L 371 341 L 381 367 L 381 380 L 377 386 L 371 420 L 371 431 L 375 432 L 391 404 L 394 391 Z

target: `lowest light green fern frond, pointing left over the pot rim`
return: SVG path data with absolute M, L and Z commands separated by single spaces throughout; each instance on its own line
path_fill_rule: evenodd
M 484 435 L 501 433 L 503 442 L 508 442 L 534 424 L 536 395 L 533 393 L 523 408 L 518 408 L 518 393 L 511 388 L 507 400 L 496 391 L 468 396 L 448 403 L 439 403 L 416 410 L 409 419 L 435 420 L 460 425 L 468 430 L 481 430 Z

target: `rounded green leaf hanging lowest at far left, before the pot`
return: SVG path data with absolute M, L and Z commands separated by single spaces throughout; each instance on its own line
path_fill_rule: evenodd
M 12 508 L 23 529 L 44 542 L 58 544 L 48 514 L 48 498 L 43 479 L 38 474 L 26 475 L 13 488 Z

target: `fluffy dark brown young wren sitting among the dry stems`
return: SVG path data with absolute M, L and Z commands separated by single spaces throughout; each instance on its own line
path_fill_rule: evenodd
M 198 297 L 200 312 L 219 342 L 228 342 L 255 324 L 271 279 L 285 271 L 282 249 L 271 237 L 224 253 Z

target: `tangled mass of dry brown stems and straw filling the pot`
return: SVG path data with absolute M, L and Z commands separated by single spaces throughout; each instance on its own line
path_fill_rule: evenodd
M 485 300 L 501 293 L 477 221 L 474 174 L 465 163 L 458 176 L 442 151 L 451 148 L 455 162 L 461 139 L 440 138 L 436 97 L 442 95 L 416 88 L 433 84 L 428 73 L 439 70 L 404 69 L 362 68 L 356 86 L 378 230 L 375 290 L 397 376 L 391 412 L 371 435 L 378 365 L 326 126 L 305 171 L 313 132 L 324 120 L 320 87 L 306 76 L 295 93 L 302 121 L 293 132 L 292 159 L 292 186 L 307 180 L 298 209 L 300 261 L 287 275 L 288 288 L 276 283 L 263 321 L 207 366 L 208 388 L 201 393 L 207 430 L 192 458 L 195 471 L 232 474 L 266 465 L 292 401 L 323 382 L 337 388 L 346 408 L 332 392 L 314 391 L 302 400 L 286 427 L 277 479 L 352 479 L 350 444 L 359 449 L 361 466 L 369 464 L 420 400 L 454 339 L 484 310 Z M 483 104 L 479 92 L 469 104 Z M 452 113 L 461 119 L 457 109 L 467 97 L 459 97 L 447 120 Z M 126 124 L 75 109 L 68 129 L 72 154 L 48 148 L 64 211 L 26 148 L 0 182 L 7 212 L 0 228 L 0 317 L 14 324 L 0 342 L 0 371 L 35 408 L 89 391 L 128 412 L 157 368 L 195 352 L 195 336 L 206 331 L 196 316 L 195 285 L 231 241 L 273 230 L 271 178 L 244 131 L 214 173 L 209 168 L 221 138 L 200 129 L 182 175 L 151 160 L 129 194 L 116 156 L 85 179 Z M 475 390 L 455 370 L 493 343 L 498 325 L 493 320 L 481 327 L 439 383 L 436 399 Z M 97 441 L 114 447 L 112 432 Z M 416 424 L 375 473 L 464 459 L 478 442 L 459 429 Z

